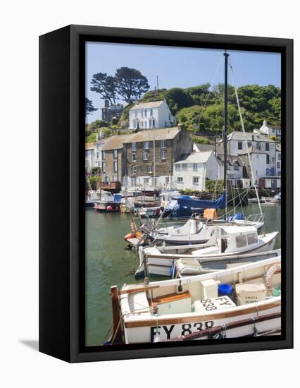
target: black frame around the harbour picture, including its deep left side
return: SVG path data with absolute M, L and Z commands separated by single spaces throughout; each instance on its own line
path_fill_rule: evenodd
M 85 346 L 86 41 L 282 54 L 282 335 Z M 70 363 L 293 347 L 293 40 L 69 25 L 39 37 L 39 351 Z

